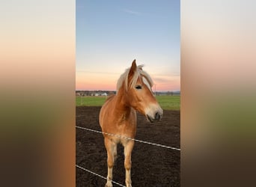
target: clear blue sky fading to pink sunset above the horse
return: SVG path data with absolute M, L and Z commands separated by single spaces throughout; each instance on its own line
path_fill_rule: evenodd
M 153 90 L 180 91 L 180 1 L 76 0 L 76 90 L 115 91 L 134 59 Z

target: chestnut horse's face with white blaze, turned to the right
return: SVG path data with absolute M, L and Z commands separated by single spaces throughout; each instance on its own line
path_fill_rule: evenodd
M 151 123 L 162 118 L 162 108 L 153 96 L 147 79 L 138 78 L 135 87 L 129 88 L 128 99 L 132 108 L 144 114 Z

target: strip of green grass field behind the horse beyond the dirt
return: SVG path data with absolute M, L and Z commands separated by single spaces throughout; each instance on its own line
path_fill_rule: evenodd
M 76 106 L 101 106 L 106 96 L 76 96 Z M 180 110 L 180 96 L 156 96 L 164 110 Z

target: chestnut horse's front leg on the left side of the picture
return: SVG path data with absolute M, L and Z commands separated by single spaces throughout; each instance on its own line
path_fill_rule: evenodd
M 112 187 L 112 170 L 115 162 L 114 155 L 116 155 L 117 144 L 111 141 L 109 138 L 104 138 L 105 147 L 108 153 L 108 176 L 107 176 L 107 183 L 106 187 Z

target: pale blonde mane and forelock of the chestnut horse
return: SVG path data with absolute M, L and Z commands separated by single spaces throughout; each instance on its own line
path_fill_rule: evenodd
M 138 78 L 141 76 L 141 79 L 144 78 L 147 80 L 148 84 L 150 85 L 150 88 L 152 88 L 153 86 L 153 81 L 150 78 L 150 76 L 147 74 L 147 72 L 145 72 L 144 70 L 142 70 L 143 65 L 138 65 L 137 69 L 135 70 L 135 73 L 132 77 L 132 80 L 130 82 L 130 84 L 128 85 L 128 75 L 129 75 L 129 69 L 125 70 L 125 72 L 120 76 L 120 78 L 118 79 L 118 83 L 117 83 L 117 91 L 119 91 L 119 89 L 121 88 L 121 86 L 124 84 L 124 88 L 126 89 L 126 91 L 128 90 L 128 88 L 132 88 L 135 87 L 136 82 L 138 80 Z M 142 79 L 142 80 L 144 80 Z M 147 85 L 147 84 L 146 84 Z

